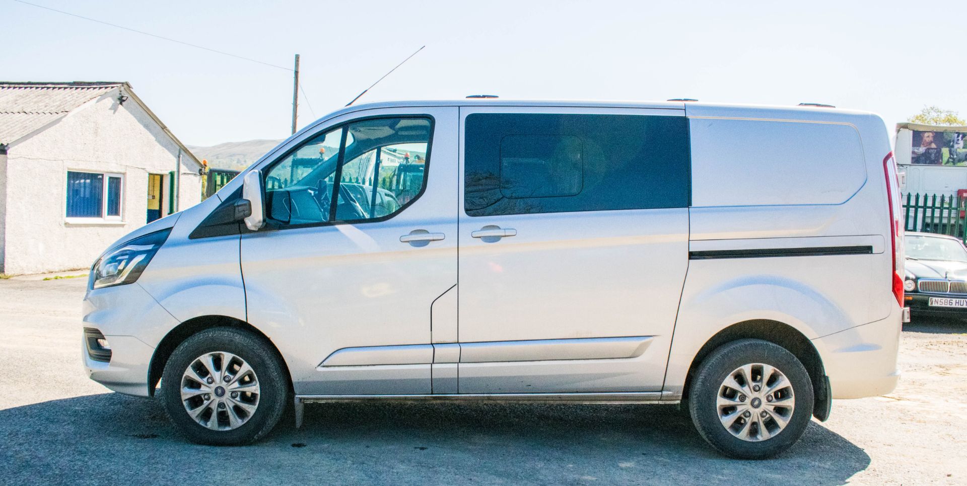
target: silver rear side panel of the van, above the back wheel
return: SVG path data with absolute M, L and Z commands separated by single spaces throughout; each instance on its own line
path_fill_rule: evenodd
M 699 349 L 737 323 L 777 321 L 816 339 L 898 316 L 879 117 L 688 108 L 689 273 L 666 392 L 681 393 Z M 893 373 L 895 346 L 865 344 L 891 361 L 877 373 Z

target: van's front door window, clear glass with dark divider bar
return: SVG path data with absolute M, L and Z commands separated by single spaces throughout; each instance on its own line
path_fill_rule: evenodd
M 309 139 L 266 171 L 268 216 L 311 225 L 399 213 L 425 187 L 430 133 L 427 118 L 377 118 Z

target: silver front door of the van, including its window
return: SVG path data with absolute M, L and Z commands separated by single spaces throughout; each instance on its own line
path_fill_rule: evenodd
M 456 284 L 457 109 L 373 115 L 258 167 L 248 318 L 274 329 L 297 395 L 431 392 L 430 307 Z

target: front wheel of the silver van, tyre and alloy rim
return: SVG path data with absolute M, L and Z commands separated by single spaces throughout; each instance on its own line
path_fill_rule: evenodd
M 244 329 L 206 329 L 181 343 L 161 375 L 161 399 L 192 443 L 253 443 L 278 423 L 289 379 L 276 350 Z

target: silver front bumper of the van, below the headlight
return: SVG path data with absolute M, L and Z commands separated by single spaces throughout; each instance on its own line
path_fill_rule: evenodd
M 158 343 L 147 336 L 164 335 L 162 329 L 178 321 L 136 283 L 89 291 L 82 313 L 83 327 L 100 330 L 111 347 L 110 361 L 99 361 L 81 339 L 87 376 L 119 393 L 149 396 L 148 369 Z

